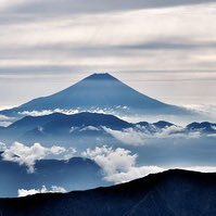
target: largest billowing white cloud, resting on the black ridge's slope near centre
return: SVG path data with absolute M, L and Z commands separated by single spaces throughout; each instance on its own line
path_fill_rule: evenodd
M 131 154 L 130 151 L 122 148 L 97 147 L 93 150 L 87 149 L 82 156 L 94 160 L 102 167 L 104 179 L 114 183 L 130 181 L 164 170 L 156 166 L 138 167 L 136 165 L 137 154 Z

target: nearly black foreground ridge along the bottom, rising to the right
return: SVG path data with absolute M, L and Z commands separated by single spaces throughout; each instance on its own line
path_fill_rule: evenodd
M 216 174 L 175 169 L 109 188 L 1 199 L 0 215 L 215 216 Z

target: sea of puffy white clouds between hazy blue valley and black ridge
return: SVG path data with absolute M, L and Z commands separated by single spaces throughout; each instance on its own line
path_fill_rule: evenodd
M 14 142 L 8 147 L 0 143 L 2 160 L 10 161 L 26 166 L 29 175 L 35 171 L 34 166 L 37 161 L 55 157 L 59 160 L 68 160 L 73 156 L 81 156 L 93 160 L 102 169 L 104 180 L 112 183 L 127 182 L 137 178 L 144 177 L 150 174 L 161 173 L 170 168 L 181 168 L 188 170 L 215 173 L 216 166 L 160 166 L 160 165 L 140 165 L 138 164 L 138 154 L 132 153 L 125 148 L 114 147 L 96 147 L 87 149 L 82 152 L 77 152 L 72 148 L 63 148 L 53 145 L 46 148 L 40 143 L 35 143 L 27 147 L 20 142 Z M 62 187 L 53 186 L 47 189 L 43 186 L 41 189 L 18 189 L 18 196 L 46 193 L 46 192 L 66 192 Z

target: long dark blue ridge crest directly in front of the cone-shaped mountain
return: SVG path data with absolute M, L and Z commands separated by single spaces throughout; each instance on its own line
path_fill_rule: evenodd
M 26 116 L 14 124 L 10 125 L 9 129 L 25 129 L 43 126 L 46 129 L 50 128 L 71 128 L 71 127 L 109 127 L 112 129 L 123 129 L 131 127 L 132 124 L 127 123 L 114 115 L 101 113 L 78 113 L 73 115 L 65 115 L 62 113 L 53 113 L 43 116 Z

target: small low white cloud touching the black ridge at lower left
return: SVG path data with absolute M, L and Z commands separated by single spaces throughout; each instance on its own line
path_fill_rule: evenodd
M 66 190 L 62 187 L 58 187 L 58 186 L 52 186 L 51 189 L 47 189 L 46 186 L 42 186 L 41 189 L 29 189 L 29 190 L 25 190 L 25 189 L 18 189 L 17 193 L 18 193 L 18 198 L 22 196 L 26 196 L 26 195 L 34 195 L 37 193 L 65 193 Z

